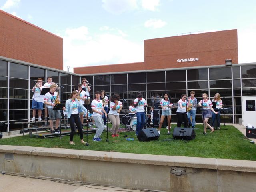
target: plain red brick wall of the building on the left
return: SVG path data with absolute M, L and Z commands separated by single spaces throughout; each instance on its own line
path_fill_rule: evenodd
M 63 39 L 0 10 L 0 56 L 63 70 Z

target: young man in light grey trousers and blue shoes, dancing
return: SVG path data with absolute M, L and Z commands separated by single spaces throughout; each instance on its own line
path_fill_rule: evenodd
M 100 136 L 102 134 L 102 131 L 104 130 L 104 122 L 102 119 L 102 115 L 104 113 L 107 116 L 107 113 L 103 108 L 102 100 L 100 100 L 99 91 L 95 92 L 95 99 L 92 101 L 92 111 L 92 118 L 94 119 L 97 128 L 94 138 L 92 140 L 101 141 Z

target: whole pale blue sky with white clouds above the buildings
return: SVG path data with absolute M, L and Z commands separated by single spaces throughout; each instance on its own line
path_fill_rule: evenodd
M 63 38 L 64 70 L 144 61 L 144 40 L 238 29 L 239 63 L 256 62 L 256 0 L 0 0 Z

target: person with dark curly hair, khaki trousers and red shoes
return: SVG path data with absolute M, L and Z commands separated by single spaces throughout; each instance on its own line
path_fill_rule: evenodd
M 119 99 L 120 97 L 118 94 L 114 94 L 110 97 L 110 110 L 108 113 L 108 118 L 112 123 L 112 137 L 119 137 L 119 135 L 117 134 L 120 124 L 119 113 L 123 108 L 122 102 L 120 102 Z

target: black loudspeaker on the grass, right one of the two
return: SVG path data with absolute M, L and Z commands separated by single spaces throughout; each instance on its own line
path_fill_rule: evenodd
M 196 132 L 193 128 L 176 127 L 173 130 L 172 138 L 192 140 L 192 139 L 196 138 Z

